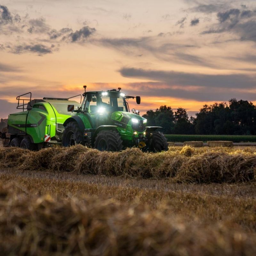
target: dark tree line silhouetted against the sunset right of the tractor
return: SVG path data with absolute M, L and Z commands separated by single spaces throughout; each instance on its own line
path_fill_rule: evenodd
M 247 100 L 231 99 L 204 105 L 195 117 L 184 108 L 173 111 L 166 105 L 148 110 L 148 126 L 161 126 L 165 134 L 256 135 L 256 106 Z

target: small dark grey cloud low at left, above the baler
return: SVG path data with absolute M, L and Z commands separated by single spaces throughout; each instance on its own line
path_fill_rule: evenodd
M 11 52 L 16 54 L 33 52 L 33 53 L 37 53 L 39 56 L 42 56 L 47 53 L 52 53 L 53 48 L 54 48 L 53 44 L 50 47 L 44 44 L 24 44 L 24 45 L 15 46 Z

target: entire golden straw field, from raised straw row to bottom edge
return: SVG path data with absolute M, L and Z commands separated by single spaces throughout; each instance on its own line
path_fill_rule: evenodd
M 256 255 L 256 149 L 0 149 L 5 255 Z

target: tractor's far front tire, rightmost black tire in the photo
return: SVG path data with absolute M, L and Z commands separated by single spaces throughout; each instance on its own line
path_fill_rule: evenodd
M 161 152 L 168 150 L 168 143 L 162 132 L 151 132 L 148 141 L 150 152 Z

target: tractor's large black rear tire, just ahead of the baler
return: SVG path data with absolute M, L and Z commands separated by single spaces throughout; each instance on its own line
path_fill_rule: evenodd
M 62 136 L 62 145 L 64 147 L 74 146 L 76 144 L 84 145 L 84 134 L 79 129 L 76 122 L 70 122 L 65 126 Z

